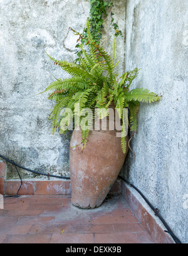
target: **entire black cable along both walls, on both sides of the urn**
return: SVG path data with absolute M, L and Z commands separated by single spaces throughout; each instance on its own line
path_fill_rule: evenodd
M 0 157 L 4 160 L 6 160 L 6 162 L 9 162 L 13 165 L 15 165 L 16 167 L 16 170 L 18 172 L 18 169 L 17 167 L 21 168 L 21 169 L 24 169 L 24 170 L 28 170 L 29 172 L 33 172 L 34 174 L 39 174 L 39 175 L 46 175 L 48 177 L 56 177 L 56 178 L 59 178 L 59 179 L 70 179 L 70 177 L 63 177 L 63 176 L 58 176 L 58 175 L 53 175 L 53 174 L 45 174 L 43 172 L 37 172 L 35 170 L 31 170 L 31 169 L 28 169 L 28 168 L 25 168 L 21 165 L 18 165 L 16 164 L 13 160 L 9 160 L 8 158 L 4 157 L 3 155 L 0 155 Z M 19 175 L 19 172 L 18 172 L 18 175 Z M 171 230 L 171 228 L 169 227 L 169 225 L 167 225 L 166 221 L 164 220 L 164 218 L 162 218 L 162 216 L 160 215 L 159 213 L 159 210 L 157 208 L 155 208 L 151 203 L 150 201 L 144 196 L 144 194 L 137 188 L 135 187 L 132 183 L 130 183 L 129 181 L 127 181 L 126 179 L 124 179 L 122 176 L 118 175 L 118 177 L 120 177 L 120 179 L 122 179 L 123 181 L 125 181 L 127 184 L 129 184 L 131 187 L 133 187 L 141 196 L 142 198 L 144 198 L 144 200 L 146 201 L 147 204 L 149 204 L 150 208 L 154 211 L 155 215 L 157 215 L 160 219 L 160 221 L 162 221 L 162 223 L 164 224 L 165 228 L 167 228 L 167 230 L 164 230 L 166 233 L 169 233 L 172 238 L 174 239 L 175 243 L 182 243 L 180 242 L 179 238 L 177 238 L 175 235 L 174 235 L 174 232 Z M 21 179 L 21 176 L 19 175 L 19 178 Z M 21 180 L 21 185 L 22 185 L 22 180 Z M 19 187 L 19 189 L 21 188 L 21 185 Z M 18 189 L 18 192 L 19 192 L 19 189 Z M 16 194 L 16 196 L 19 196 L 18 195 L 18 192 Z

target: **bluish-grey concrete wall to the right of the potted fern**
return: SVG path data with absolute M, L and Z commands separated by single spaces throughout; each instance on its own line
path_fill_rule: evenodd
M 188 242 L 187 82 L 188 1 L 127 0 L 126 70 L 138 67 L 134 87 L 162 95 L 142 104 L 123 175 Z

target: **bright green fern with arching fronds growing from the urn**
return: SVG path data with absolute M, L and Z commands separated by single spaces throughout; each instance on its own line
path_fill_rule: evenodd
M 100 45 L 97 45 L 90 33 L 90 22 L 86 21 L 87 38 L 86 45 L 88 50 L 82 47 L 82 55 L 79 63 L 68 62 L 66 60 L 50 59 L 59 65 L 63 70 L 71 75 L 68 79 L 56 79 L 44 92 L 50 92 L 48 99 L 53 99 L 56 104 L 51 112 L 52 133 L 56 129 L 62 134 L 69 129 L 73 119 L 78 118 L 79 122 L 85 118 L 85 109 L 108 109 L 113 102 L 118 111 L 120 119 L 123 117 L 123 108 L 130 110 L 130 131 L 137 131 L 137 113 L 140 102 L 152 103 L 158 101 L 160 96 L 147 89 L 130 89 L 132 82 L 138 75 L 138 69 L 135 68 L 125 72 L 121 77 L 115 73 L 116 43 L 113 41 L 112 56 L 110 56 Z M 70 28 L 79 38 L 83 35 Z M 70 109 L 62 114 L 62 109 Z M 99 118 L 108 115 L 108 111 L 96 111 Z M 73 113 L 73 116 L 71 116 Z M 103 113 L 103 114 L 102 114 Z M 93 111 L 81 127 L 81 139 L 83 148 L 89 136 L 90 127 L 93 121 Z M 125 134 L 125 121 L 122 120 L 122 135 Z M 74 128 L 74 127 L 73 127 Z M 125 136 L 121 138 L 123 153 L 126 152 Z

